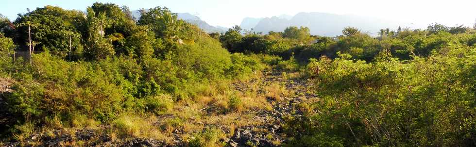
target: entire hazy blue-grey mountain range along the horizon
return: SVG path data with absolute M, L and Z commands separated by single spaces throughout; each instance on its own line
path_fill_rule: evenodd
M 132 14 L 137 19 L 140 17 L 139 11 L 133 11 Z M 200 17 L 189 13 L 177 13 L 177 16 L 179 19 L 197 25 L 207 33 L 223 33 L 228 30 L 228 28 L 225 27 L 212 26 Z M 402 28 L 425 27 L 416 26 L 412 23 L 410 25 L 410 23 L 407 22 L 397 22 L 368 16 L 337 15 L 317 12 L 301 12 L 295 16 L 280 15 L 265 18 L 245 17 L 240 24 L 240 27 L 244 30 L 256 33 L 262 32 L 263 34 L 267 34 L 270 31 L 283 32 L 289 26 L 308 27 L 311 34 L 322 36 L 341 35 L 342 29 L 345 27 L 355 27 L 371 35 L 377 35 L 377 32 L 383 28 L 396 30 L 399 26 Z

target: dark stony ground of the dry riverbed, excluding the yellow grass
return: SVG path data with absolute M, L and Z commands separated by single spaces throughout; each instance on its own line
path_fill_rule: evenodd
M 298 76 L 297 76 L 298 77 Z M 262 81 L 258 83 L 256 89 L 258 92 L 264 93 L 264 87 L 271 83 L 280 83 L 285 86 L 292 95 L 280 96 L 280 100 L 275 98 L 267 98 L 272 103 L 271 110 L 247 110 L 243 114 L 251 115 L 253 121 L 264 122 L 261 125 L 244 125 L 234 129 L 231 137 L 221 139 L 228 147 L 275 147 L 286 143 L 286 134 L 283 131 L 283 123 L 286 117 L 291 115 L 302 114 L 297 108 L 298 105 L 308 99 L 316 98 L 315 95 L 308 92 L 306 80 L 300 78 L 289 78 L 289 74 L 283 74 L 278 71 L 267 71 L 263 73 Z M 236 82 L 232 84 L 236 91 L 247 91 L 253 88 L 246 83 Z M 256 88 L 256 87 L 255 87 Z M 204 108 L 203 111 L 210 113 L 213 107 Z M 241 118 L 237 118 L 241 119 Z M 213 124 L 204 124 L 213 126 Z M 213 126 L 223 131 L 229 131 L 226 126 Z M 115 139 L 110 136 L 107 131 L 112 128 L 108 125 L 101 125 L 94 129 L 83 129 L 75 131 L 50 131 L 44 133 L 35 133 L 32 136 L 23 139 L 23 142 L 4 143 L 4 147 L 20 147 L 20 146 L 38 146 L 38 147 L 63 147 L 71 146 L 68 142 L 75 141 L 76 145 L 81 142 L 82 146 L 95 147 L 176 147 L 187 146 L 186 141 L 182 140 L 178 135 L 181 131 L 172 131 L 175 137 L 171 142 L 148 139 L 134 138 L 129 140 Z M 52 134 L 51 134 L 52 133 Z M 228 132 L 231 134 L 231 132 Z M 54 137 L 51 137 L 54 136 Z

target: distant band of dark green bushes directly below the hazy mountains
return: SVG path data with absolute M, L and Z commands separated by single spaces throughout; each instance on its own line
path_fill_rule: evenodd
M 379 52 L 390 50 L 392 57 L 402 61 L 411 60 L 416 56 L 427 57 L 432 51 L 438 51 L 451 43 L 473 46 L 476 42 L 475 33 L 472 30 L 452 34 L 445 31 L 430 33 L 407 29 L 391 37 L 378 39 L 353 29 L 355 28 L 347 30 L 353 32 L 352 34 L 334 38 L 309 36 L 306 40 L 313 40 L 312 43 L 286 37 L 282 32 L 270 32 L 267 35 L 245 34 L 235 37 L 234 42 L 222 39 L 221 43 L 231 52 L 265 53 L 280 56 L 285 60 L 294 57 L 301 65 L 306 65 L 311 58 L 318 59 L 321 56 L 337 58 L 338 52 L 347 53 L 354 60 L 372 62 Z M 233 32 L 233 30 L 230 31 Z M 223 37 L 226 36 L 222 35 L 221 38 Z

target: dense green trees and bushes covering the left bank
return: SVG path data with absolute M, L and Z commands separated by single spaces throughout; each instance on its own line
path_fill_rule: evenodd
M 13 92 L 0 96 L 16 118 L 9 125 L 17 126 L 2 134 L 26 133 L 22 126 L 49 125 L 53 118 L 64 126 L 78 125 L 78 118 L 118 120 L 119 128 L 130 131 L 118 116 L 167 112 L 175 101 L 201 93 L 196 87 L 261 68 L 259 58 L 230 54 L 168 9 L 144 13 L 139 25 L 115 4 L 95 3 L 87 10 L 81 14 L 46 6 L 20 16 L 14 23 L 38 24 L 33 39 L 41 41 L 42 53 L 33 55 L 32 65 L 21 58 L 14 63 L 4 53 L 15 47 L 12 39 L 0 36 L 0 78 L 14 82 Z M 56 25 L 39 24 L 59 18 Z M 24 29 L 10 34 L 21 36 L 17 44 L 25 40 Z M 68 37 L 61 32 L 74 34 L 71 60 L 65 58 Z

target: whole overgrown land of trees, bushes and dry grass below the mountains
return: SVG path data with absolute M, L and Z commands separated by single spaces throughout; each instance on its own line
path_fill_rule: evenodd
M 89 146 L 101 135 L 75 132 L 95 130 L 189 147 L 232 146 L 239 132 L 251 147 L 476 146 L 476 28 L 207 34 L 167 8 L 141 13 L 1 17 L 3 144 L 69 134 L 60 146 Z

